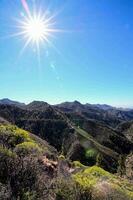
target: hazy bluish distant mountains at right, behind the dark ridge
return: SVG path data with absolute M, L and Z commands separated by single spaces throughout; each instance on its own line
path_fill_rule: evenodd
M 133 120 L 133 110 L 121 110 L 107 105 L 81 104 L 74 101 L 61 103 L 55 107 L 69 116 L 80 115 L 113 128 L 122 122 Z

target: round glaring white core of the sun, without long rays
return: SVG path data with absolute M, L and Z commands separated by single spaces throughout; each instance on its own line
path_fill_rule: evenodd
M 30 42 L 36 44 L 37 47 L 41 43 L 50 43 L 49 37 L 52 36 L 52 32 L 57 32 L 56 29 L 51 28 L 51 18 L 45 18 L 41 13 L 33 13 L 29 16 L 19 20 L 19 35 L 23 35 L 26 39 L 25 46 L 28 46 Z

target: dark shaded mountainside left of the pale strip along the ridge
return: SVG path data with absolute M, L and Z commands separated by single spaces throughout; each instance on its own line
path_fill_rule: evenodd
M 40 102 L 36 103 L 36 107 L 33 103 L 22 108 L 0 104 L 0 117 L 37 134 L 55 146 L 57 150 L 61 150 L 63 143 L 64 145 L 71 145 L 73 141 L 73 130 L 68 126 L 62 115 L 50 105 L 43 104 L 43 108 L 40 110 Z M 65 144 L 64 138 L 69 138 L 67 144 Z

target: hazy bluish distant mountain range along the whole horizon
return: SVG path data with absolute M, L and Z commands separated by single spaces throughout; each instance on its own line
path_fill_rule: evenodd
M 66 113 L 71 118 L 85 118 L 98 121 L 106 126 L 117 127 L 118 124 L 133 120 L 133 109 L 116 108 L 106 104 L 81 104 L 78 101 L 64 102 L 57 105 L 50 105 L 43 101 L 33 101 L 24 104 L 10 99 L 1 99 L 0 105 L 13 105 L 26 110 L 46 111 L 56 109 Z

